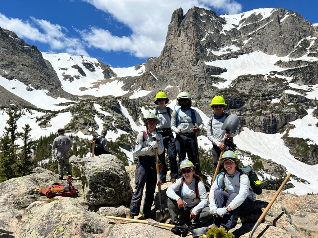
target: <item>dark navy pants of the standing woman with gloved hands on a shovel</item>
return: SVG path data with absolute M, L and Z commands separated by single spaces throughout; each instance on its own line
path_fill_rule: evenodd
M 146 185 L 146 195 L 142 212 L 151 215 L 151 206 L 155 198 L 157 184 L 157 169 L 155 156 L 139 156 L 135 170 L 135 192 L 130 202 L 130 214 L 137 216 L 140 212 L 142 192 Z

